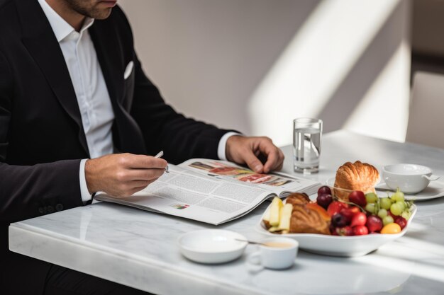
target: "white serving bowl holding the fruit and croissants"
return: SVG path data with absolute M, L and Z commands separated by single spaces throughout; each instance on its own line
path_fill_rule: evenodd
M 271 204 L 270 204 L 271 206 Z M 341 257 L 356 257 L 363 256 L 370 253 L 385 243 L 396 240 L 404 236 L 409 224 L 416 214 L 416 206 L 414 205 L 413 211 L 409 221 L 407 221 L 406 227 L 400 233 L 394 234 L 382 234 L 372 233 L 365 236 L 328 236 L 318 233 L 270 233 L 262 222 L 267 211 L 270 210 L 270 206 L 267 207 L 264 214 L 262 214 L 260 221 L 255 226 L 255 230 L 262 233 L 264 236 L 282 236 L 286 238 L 294 238 L 299 242 L 299 248 L 311 253 L 317 253 L 322 255 L 341 256 Z

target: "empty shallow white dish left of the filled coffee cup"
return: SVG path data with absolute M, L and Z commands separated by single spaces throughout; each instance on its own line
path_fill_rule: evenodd
M 223 229 L 202 229 L 179 236 L 178 243 L 182 255 L 200 263 L 223 263 L 235 260 L 242 255 L 247 242 L 245 236 Z

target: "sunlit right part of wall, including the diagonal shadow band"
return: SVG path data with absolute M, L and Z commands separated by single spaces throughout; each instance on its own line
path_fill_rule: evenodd
M 408 4 L 319 2 L 250 95 L 253 134 L 267 134 L 286 145 L 292 142 L 295 117 L 321 117 L 326 132 L 346 127 L 377 137 L 404 136 Z M 372 124 L 392 108 L 402 108 L 399 118 L 389 126 L 382 120 Z

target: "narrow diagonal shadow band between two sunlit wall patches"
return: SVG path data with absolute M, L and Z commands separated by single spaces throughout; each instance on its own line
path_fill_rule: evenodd
M 392 15 L 387 18 L 360 59 L 319 113 L 318 117 L 324 122 L 324 132 L 331 132 L 343 127 L 350 114 L 404 41 L 404 35 L 393 33 L 403 30 L 405 16 L 401 5 L 404 5 L 402 1 L 396 6 Z

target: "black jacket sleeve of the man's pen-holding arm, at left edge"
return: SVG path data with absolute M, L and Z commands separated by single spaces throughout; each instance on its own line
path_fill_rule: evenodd
M 13 75 L 0 52 L 0 221 L 18 221 L 82 205 L 80 160 L 34 166 L 7 163 Z

